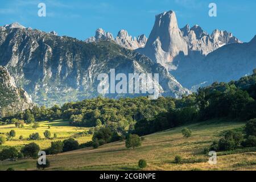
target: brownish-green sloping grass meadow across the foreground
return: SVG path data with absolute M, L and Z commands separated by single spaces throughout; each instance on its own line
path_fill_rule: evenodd
M 181 135 L 183 127 L 147 135 L 142 146 L 127 149 L 125 142 L 105 144 L 97 149 L 82 148 L 48 156 L 51 167 L 47 170 L 137 170 L 138 160 L 146 159 L 146 170 L 256 170 L 256 148 L 245 148 L 231 152 L 218 152 L 217 165 L 208 163 L 209 156 L 203 149 L 214 139 L 220 138 L 221 131 L 244 126 L 243 122 L 208 121 L 183 127 L 192 130 L 191 138 Z M 175 164 L 180 155 L 182 164 Z M 1 162 L 0 170 L 13 167 L 15 170 L 34 170 L 35 159 L 16 162 Z

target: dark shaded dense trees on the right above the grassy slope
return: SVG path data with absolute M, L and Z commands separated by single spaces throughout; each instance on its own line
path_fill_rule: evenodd
M 197 93 L 175 100 L 175 108 L 135 123 L 133 133 L 146 135 L 187 122 L 213 118 L 256 118 L 256 73 L 229 83 L 214 82 Z

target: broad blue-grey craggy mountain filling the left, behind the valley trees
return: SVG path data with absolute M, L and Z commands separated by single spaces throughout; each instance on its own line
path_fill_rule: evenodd
M 138 52 L 122 48 L 113 36 L 97 30 L 95 39 L 85 43 L 67 36 L 56 36 L 31 28 L 0 28 L 0 65 L 4 65 L 39 105 L 63 104 L 100 95 L 100 73 L 158 73 L 156 96 L 181 97 L 189 90 L 160 64 Z M 143 40 L 143 37 L 142 39 Z M 106 97 L 134 97 L 143 94 L 105 94 Z M 144 94 L 146 95 L 146 94 Z

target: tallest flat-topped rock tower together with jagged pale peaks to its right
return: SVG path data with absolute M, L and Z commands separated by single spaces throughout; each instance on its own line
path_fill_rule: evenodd
M 156 15 L 155 24 L 144 48 L 138 52 L 150 57 L 170 71 L 178 69 L 180 61 L 190 56 L 201 59 L 208 53 L 230 43 L 241 43 L 227 31 L 214 30 L 211 35 L 200 26 L 187 24 L 179 28 L 174 11 Z

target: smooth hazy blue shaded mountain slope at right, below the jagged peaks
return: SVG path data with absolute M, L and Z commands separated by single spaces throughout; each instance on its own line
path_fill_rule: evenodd
M 191 57 L 185 57 L 179 69 L 171 73 L 183 86 L 196 91 L 199 86 L 215 81 L 229 82 L 251 75 L 255 68 L 256 36 L 249 43 L 226 44 L 201 60 L 193 61 Z

